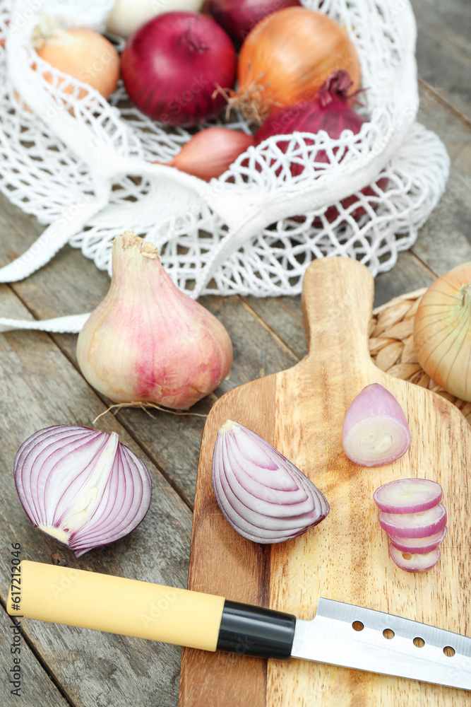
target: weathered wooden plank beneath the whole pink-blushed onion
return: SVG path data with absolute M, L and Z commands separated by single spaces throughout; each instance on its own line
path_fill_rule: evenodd
M 11 223 L 16 223 L 15 212 L 18 210 L 5 201 L 0 198 L 0 204 L 5 206 L 5 215 L 0 212 L 0 234 L 5 234 L 0 242 L 0 258 L 8 262 L 13 253 L 21 252 L 33 242 L 41 227 L 34 226 L 30 217 L 18 212 L 18 223 L 12 228 Z M 27 280 L 13 284 L 14 291 L 40 319 L 95 308 L 108 287 L 108 275 L 98 271 L 93 262 L 70 247 L 61 250 L 51 263 Z M 289 368 L 296 362 L 290 350 L 273 337 L 239 298 L 208 296 L 202 298 L 201 303 L 219 317 L 234 346 L 232 372 L 215 395 L 222 395 L 247 380 Z M 75 361 L 76 335 L 59 334 L 54 339 Z M 212 400 L 206 399 L 197 404 L 193 411 L 206 414 Z M 152 415 L 150 417 L 141 410 L 124 409 L 119 412 L 118 419 L 134 438 L 140 440 L 148 455 L 191 506 L 204 419 L 177 417 L 160 411 L 152 411 Z M 92 421 L 93 417 L 87 423 Z

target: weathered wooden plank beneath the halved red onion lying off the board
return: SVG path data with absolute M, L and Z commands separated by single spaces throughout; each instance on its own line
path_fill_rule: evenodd
M 0 288 L 0 309 L 6 316 L 28 315 L 6 286 Z M 52 553 L 60 549 L 69 566 L 185 586 L 191 513 L 112 416 L 100 419 L 99 428 L 117 431 L 121 441 L 143 458 L 152 477 L 153 501 L 141 525 L 129 536 L 81 559 L 32 527 L 13 484 L 13 458 L 20 443 L 45 426 L 88 425 L 104 406 L 46 334 L 2 334 L 0 378 L 3 541 L 20 542 L 23 559 L 50 562 Z M 0 555 L 0 573 L 5 601 L 10 575 L 6 553 Z M 97 597 L 97 602 L 106 600 Z M 155 703 L 156 691 L 162 707 L 174 706 L 177 701 L 180 649 L 175 646 L 26 619 L 23 630 L 74 707 L 148 706 Z M 38 695 L 37 704 L 47 703 L 46 698 Z

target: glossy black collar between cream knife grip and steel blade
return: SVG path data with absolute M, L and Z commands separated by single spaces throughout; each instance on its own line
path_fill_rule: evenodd
M 217 650 L 259 658 L 290 658 L 296 617 L 250 604 L 224 604 Z

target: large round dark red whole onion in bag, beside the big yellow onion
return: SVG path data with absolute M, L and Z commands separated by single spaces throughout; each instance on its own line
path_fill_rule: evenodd
M 129 37 L 121 55 L 129 98 L 166 125 L 189 127 L 215 117 L 225 105 L 215 91 L 232 88 L 235 71 L 236 53 L 225 31 L 193 12 L 153 18 Z

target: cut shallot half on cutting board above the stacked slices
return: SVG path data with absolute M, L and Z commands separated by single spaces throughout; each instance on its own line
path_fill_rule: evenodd
M 395 397 L 379 383 L 366 385 L 345 413 L 342 445 L 347 457 L 362 467 L 379 467 L 402 457 L 410 441 Z

